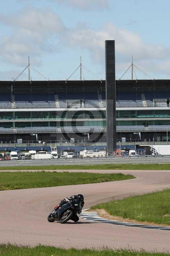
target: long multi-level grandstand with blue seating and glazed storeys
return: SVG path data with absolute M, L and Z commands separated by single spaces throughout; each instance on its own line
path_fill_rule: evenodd
M 0 141 L 106 142 L 105 81 L 0 81 Z M 170 80 L 116 81 L 117 141 L 170 140 Z

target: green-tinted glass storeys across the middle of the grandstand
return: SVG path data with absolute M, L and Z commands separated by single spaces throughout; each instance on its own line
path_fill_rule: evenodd
M 106 126 L 106 110 L 0 112 L 1 127 Z M 14 118 L 14 122 L 13 122 Z M 116 125 L 170 125 L 170 110 L 117 110 Z M 123 120 L 123 119 L 129 120 Z M 136 120 L 130 120 L 130 119 Z M 142 120 L 139 120 L 142 119 Z M 153 120 L 153 118 L 155 120 Z M 168 119 L 169 120 L 168 120 Z M 37 120 L 39 119 L 39 120 Z M 61 123 L 63 119 L 64 124 Z M 166 120 L 167 119 L 167 120 Z M 7 122 L 3 122 L 3 120 Z

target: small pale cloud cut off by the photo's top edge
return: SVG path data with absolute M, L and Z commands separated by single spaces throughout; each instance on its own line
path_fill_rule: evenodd
M 108 0 L 51 0 L 59 4 L 70 5 L 83 11 L 98 11 L 108 9 Z

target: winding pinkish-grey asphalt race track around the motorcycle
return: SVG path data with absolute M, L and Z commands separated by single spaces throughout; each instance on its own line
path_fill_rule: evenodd
M 81 193 L 85 196 L 84 209 L 86 209 L 97 203 L 107 202 L 113 197 L 121 199 L 129 195 L 170 188 L 170 171 L 85 170 L 85 172 L 122 172 L 132 174 L 137 179 L 0 191 L 0 243 L 10 242 L 31 246 L 44 244 L 78 249 L 108 246 L 170 251 L 170 231 L 124 227 L 83 219 L 78 223 L 48 222 L 47 215 L 54 205 L 73 194 Z

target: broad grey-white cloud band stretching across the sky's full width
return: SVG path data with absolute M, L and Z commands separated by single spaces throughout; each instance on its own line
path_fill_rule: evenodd
M 133 55 L 134 63 L 145 72 L 170 74 L 170 48 L 144 43 L 138 34 L 112 23 L 106 23 L 98 30 L 81 23 L 76 28 L 69 28 L 52 10 L 36 8 L 25 8 L 12 19 L 11 14 L 0 13 L 0 21 L 12 31 L 11 36 L 3 36 L 0 41 L 1 60 L 8 64 L 24 67 L 27 57 L 31 56 L 32 64 L 40 66 L 44 54 L 79 48 L 89 52 L 92 60 L 104 67 L 105 40 L 113 39 L 118 72 L 128 68 Z

